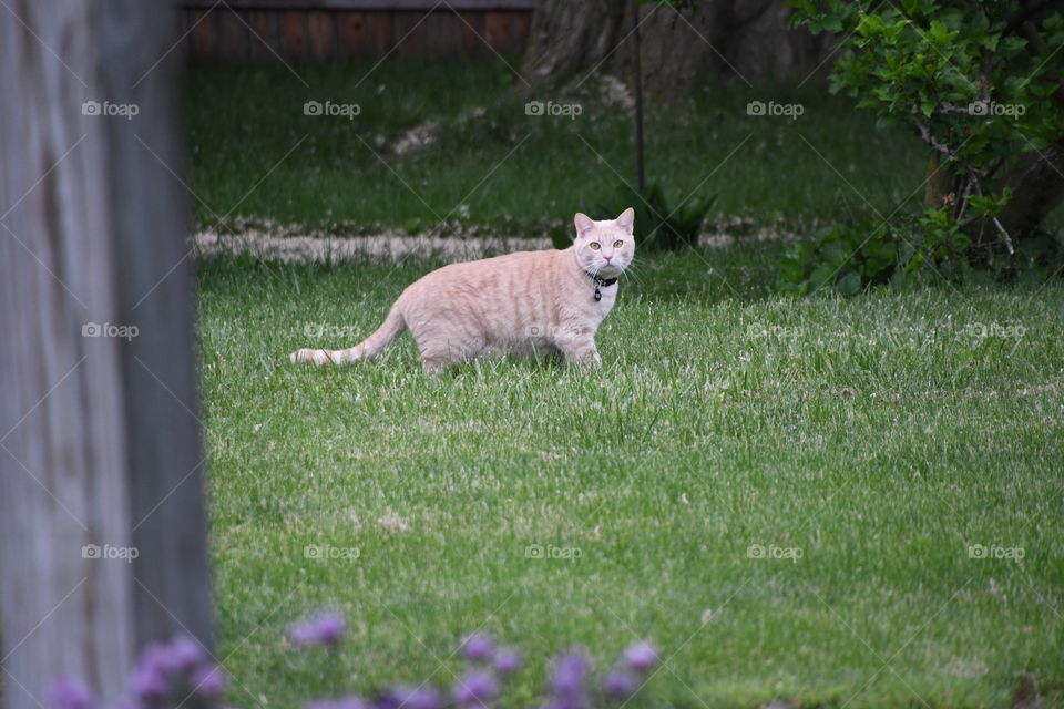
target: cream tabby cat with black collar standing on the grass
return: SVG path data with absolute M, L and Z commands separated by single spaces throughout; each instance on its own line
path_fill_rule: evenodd
M 560 353 L 597 367 L 595 332 L 617 297 L 617 277 L 632 263 L 635 213 L 613 220 L 574 218 L 576 238 L 564 250 L 520 251 L 451 264 L 415 281 L 383 325 L 346 350 L 304 349 L 295 362 L 347 364 L 372 359 L 410 330 L 421 364 L 439 374 L 449 364 L 497 354 Z

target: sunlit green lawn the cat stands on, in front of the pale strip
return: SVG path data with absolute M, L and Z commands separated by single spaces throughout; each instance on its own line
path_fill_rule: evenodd
M 667 658 L 637 707 L 1003 707 L 1020 671 L 1061 706 L 1064 288 L 777 299 L 773 248 L 645 259 L 601 372 L 439 383 L 408 336 L 352 369 L 286 359 L 352 341 L 307 327 L 370 331 L 430 265 L 203 264 L 234 701 L 448 685 L 483 627 L 529 655 L 509 706 L 552 653 L 635 637 Z M 284 647 L 318 606 L 351 620 L 340 657 Z

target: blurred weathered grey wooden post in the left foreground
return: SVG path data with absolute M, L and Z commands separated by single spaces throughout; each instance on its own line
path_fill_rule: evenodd
M 0 8 L 0 689 L 211 650 L 170 3 Z M 173 172 L 171 172 L 173 171 Z

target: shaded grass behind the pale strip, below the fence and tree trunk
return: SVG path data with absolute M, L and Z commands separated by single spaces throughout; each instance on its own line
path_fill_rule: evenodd
M 521 233 L 587 212 L 622 179 L 635 182 L 624 111 L 587 103 L 575 120 L 528 116 L 505 93 L 510 74 L 499 61 L 371 68 L 298 66 L 309 89 L 284 66 L 194 71 L 188 121 L 201 224 L 233 210 L 316 226 L 419 228 L 468 214 L 473 224 Z M 310 100 L 357 103 L 361 113 L 306 116 Z M 800 103 L 805 114 L 750 116 L 750 101 Z M 478 107 L 484 115 L 471 119 Z M 673 202 L 695 191 L 719 195 L 717 216 L 863 218 L 874 216 L 869 203 L 887 216 L 923 195 L 919 142 L 877 129 L 871 113 L 822 85 L 706 86 L 669 106 L 651 101 L 646 111 L 648 179 Z M 441 126 L 430 146 L 407 155 L 388 147 L 427 120 Z

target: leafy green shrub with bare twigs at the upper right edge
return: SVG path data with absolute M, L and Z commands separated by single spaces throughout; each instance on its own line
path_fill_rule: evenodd
M 927 271 L 1041 273 L 1058 249 L 1040 225 L 1064 194 L 1057 166 L 1064 165 L 1058 6 L 789 4 L 796 8 L 795 24 L 839 38 L 831 92 L 852 96 L 881 125 L 908 126 L 931 160 L 922 213 L 900 226 L 820 232 L 811 244 L 795 247 L 777 288 L 856 292 Z

